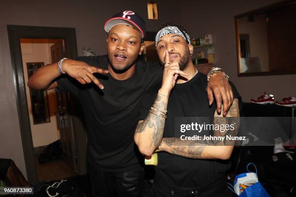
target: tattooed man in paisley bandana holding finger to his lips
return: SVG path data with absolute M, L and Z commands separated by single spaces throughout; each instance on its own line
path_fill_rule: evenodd
M 140 101 L 140 121 L 134 140 L 143 155 L 158 155 L 151 197 L 231 197 L 226 171 L 234 141 L 206 140 L 203 136 L 235 136 L 241 99 L 230 83 L 235 99 L 226 117 L 217 113 L 216 103 L 207 105 L 207 78 L 192 64 L 193 46 L 189 41 L 185 29 L 177 25 L 168 24 L 158 31 L 155 42 L 164 64 L 163 79 Z M 196 131 L 186 126 L 184 131 L 179 126 L 188 122 L 179 123 L 178 117 L 208 117 L 208 123 L 236 127 L 224 132 L 216 128 Z M 204 121 L 203 118 L 198 124 Z M 200 139 L 185 138 L 194 135 Z

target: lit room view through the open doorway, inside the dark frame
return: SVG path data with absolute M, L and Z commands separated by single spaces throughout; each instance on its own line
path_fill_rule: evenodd
M 40 67 L 65 56 L 62 39 L 21 38 L 20 43 L 25 84 Z M 73 131 L 66 123 L 69 122 L 67 94 L 25 87 L 38 181 L 76 175 L 72 161 Z

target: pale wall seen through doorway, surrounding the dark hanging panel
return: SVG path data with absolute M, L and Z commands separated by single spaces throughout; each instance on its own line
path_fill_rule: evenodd
M 44 65 L 51 63 L 50 46 L 53 43 L 21 43 L 23 69 L 25 83 L 28 82 L 27 62 L 44 62 Z M 55 112 L 57 111 L 55 90 L 48 90 L 48 107 L 50 114 L 50 122 L 34 125 L 32 116 L 32 106 L 30 100 L 30 90 L 26 86 L 30 125 L 32 132 L 33 146 L 45 146 L 59 139 L 59 130 L 57 129 L 57 119 Z

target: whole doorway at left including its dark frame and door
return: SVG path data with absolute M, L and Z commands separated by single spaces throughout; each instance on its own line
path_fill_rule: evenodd
M 83 115 L 81 109 L 71 109 L 71 107 L 77 106 L 77 99 L 69 93 L 60 93 L 57 90 L 41 91 L 37 94 L 35 92 L 33 94 L 35 99 L 31 99 L 30 88 L 26 85 L 28 73 L 33 71 L 36 66 L 56 62 L 63 56 L 73 59 L 77 57 L 75 29 L 12 25 L 8 25 L 7 28 L 28 181 L 37 183 L 42 180 L 66 178 L 59 177 L 58 175 L 63 175 L 57 169 L 49 170 L 51 172 L 49 175 L 52 175 L 52 178 L 47 176 L 48 174 L 46 178 L 42 177 L 44 175 L 40 172 L 40 168 L 38 168 L 40 166 L 36 162 L 36 155 L 40 154 L 42 147 L 53 142 L 56 143 L 56 141 L 60 141 L 62 156 L 66 158 L 64 164 L 71 167 L 62 166 L 61 170 L 63 172 L 68 170 L 68 172 L 64 173 L 64 176 L 71 176 L 77 173 L 85 174 L 86 132 Z M 22 44 L 25 44 L 24 42 L 29 41 L 30 46 L 28 47 L 27 45 L 27 49 L 22 46 Z M 25 54 L 22 55 L 22 52 L 25 53 L 24 50 L 27 50 L 27 53 L 32 53 L 30 49 L 33 49 L 34 52 L 34 47 L 37 47 L 36 44 L 38 42 L 47 42 L 43 43 L 43 47 L 47 48 L 48 54 L 44 59 L 40 59 L 41 56 L 37 55 L 36 57 L 38 58 L 29 60 L 29 56 L 25 57 Z M 39 43 L 38 47 L 41 45 Z M 40 49 L 35 49 L 35 52 L 40 52 Z M 36 95 L 40 96 L 38 102 L 36 102 Z M 36 103 L 32 103 L 32 100 Z M 49 117 L 46 117 L 46 113 L 44 113 L 46 112 L 46 104 Z M 34 113 L 39 113 L 37 115 L 39 118 L 33 118 L 33 111 Z M 41 115 L 44 116 L 41 119 L 41 123 L 34 124 L 35 120 L 40 120 Z M 38 129 L 36 130 L 36 128 Z M 46 129 L 48 130 L 47 133 Z M 32 136 L 32 133 L 39 135 L 37 135 L 37 140 L 36 136 Z M 79 141 L 76 139 L 79 139 Z M 48 162 L 48 164 L 52 167 L 57 166 L 52 162 Z M 49 166 L 46 166 L 44 169 L 48 169 Z M 71 172 L 69 172 L 69 169 L 72 169 L 72 171 L 70 170 Z

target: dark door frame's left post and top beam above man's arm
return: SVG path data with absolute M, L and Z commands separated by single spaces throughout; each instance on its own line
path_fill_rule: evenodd
M 77 42 L 75 28 L 55 28 L 37 26 L 7 25 L 10 47 L 13 80 L 15 87 L 16 107 L 22 139 L 23 153 L 30 183 L 37 183 L 37 170 L 34 161 L 33 141 L 30 127 L 28 101 L 26 96 L 24 70 L 21 53 L 21 38 L 64 39 L 67 57 L 77 57 Z

